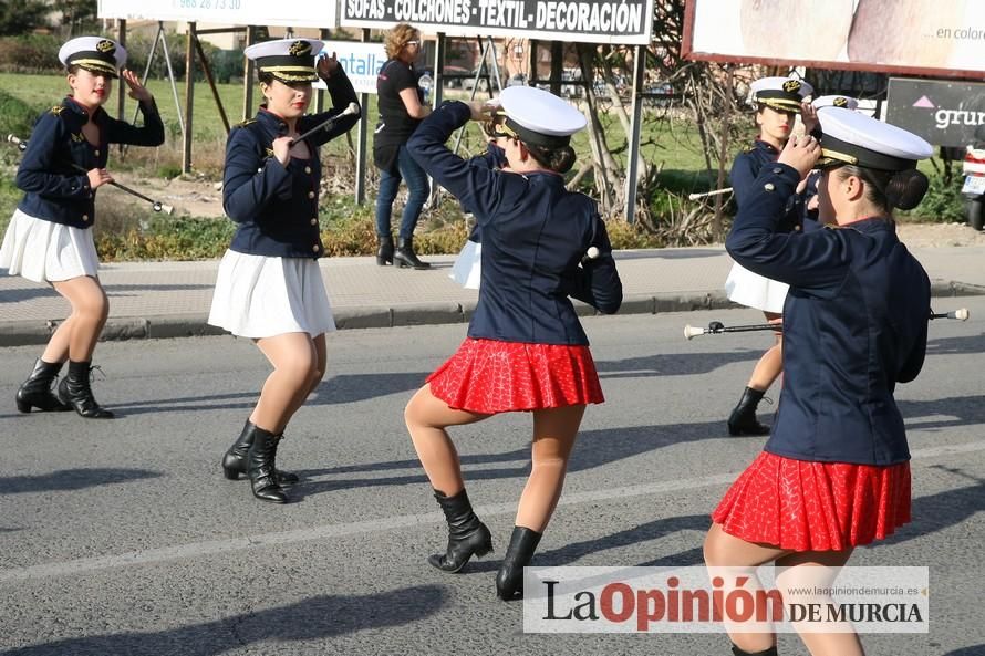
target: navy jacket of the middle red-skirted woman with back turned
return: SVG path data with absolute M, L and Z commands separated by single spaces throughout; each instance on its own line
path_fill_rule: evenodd
M 468 105 L 446 103 L 407 142 L 411 155 L 475 214 L 481 230 L 483 278 L 468 335 L 588 344 L 569 296 L 606 314 L 622 303 L 622 282 L 595 202 L 564 189 L 560 175 L 518 175 L 458 157 L 445 142 L 468 118 Z M 579 265 L 591 246 L 600 257 Z

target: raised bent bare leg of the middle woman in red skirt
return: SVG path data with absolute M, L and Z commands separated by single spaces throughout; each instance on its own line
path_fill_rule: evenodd
M 448 404 L 431 393 L 429 384 L 411 398 L 404 410 L 404 421 L 432 488 L 447 497 L 454 497 L 465 489 L 458 451 L 445 428 L 474 424 L 487 417 L 489 415 L 449 408 Z

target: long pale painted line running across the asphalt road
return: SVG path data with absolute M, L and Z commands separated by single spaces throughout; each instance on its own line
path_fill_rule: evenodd
M 955 454 L 968 454 L 982 450 L 985 450 L 985 441 L 974 441 L 958 445 L 930 447 L 925 449 L 914 449 L 911 451 L 911 455 L 913 459 L 916 460 L 923 458 L 936 458 L 940 456 L 951 456 Z M 915 465 L 920 464 L 916 462 Z M 561 498 L 560 504 L 573 506 L 576 503 L 610 501 L 615 499 L 626 499 L 631 497 L 645 497 L 650 494 L 662 494 L 665 492 L 678 492 L 681 490 L 694 490 L 714 486 L 725 486 L 734 481 L 739 473 L 740 472 L 738 471 L 734 471 L 730 473 L 699 476 L 656 483 L 623 486 L 609 490 L 571 492 L 564 494 Z M 516 512 L 516 510 L 517 507 L 515 503 L 490 503 L 476 508 L 477 514 L 483 517 L 508 514 Z M 394 529 L 405 529 L 419 524 L 439 523 L 440 521 L 443 521 L 443 519 L 444 517 L 439 512 L 428 512 L 424 514 L 405 514 L 362 522 L 326 524 L 323 527 L 298 529 L 293 531 L 280 531 L 276 533 L 260 533 L 258 535 L 250 535 L 247 538 L 228 538 L 225 540 L 209 540 L 206 542 L 193 542 L 190 544 L 178 544 L 175 546 L 162 546 L 159 549 L 145 549 L 143 551 L 132 551 L 129 553 L 100 555 L 95 558 L 84 558 L 64 562 L 44 563 L 41 565 L 31 565 L 28 568 L 12 568 L 9 570 L 0 570 L 0 583 L 12 583 L 32 579 L 48 579 L 51 576 L 63 576 L 68 574 L 81 574 L 84 572 L 94 572 L 97 570 L 112 570 L 116 568 L 125 568 L 128 565 L 144 565 L 185 558 L 201 558 L 218 553 L 241 551 L 245 549 L 280 546 L 283 544 L 290 544 L 292 542 L 307 542 L 310 540 L 323 540 L 326 538 L 341 538 L 343 535 L 353 535 L 359 533 L 391 531 Z

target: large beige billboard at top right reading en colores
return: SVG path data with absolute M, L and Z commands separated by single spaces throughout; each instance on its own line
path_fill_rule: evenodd
M 982 0 L 687 0 L 690 59 L 985 80 Z

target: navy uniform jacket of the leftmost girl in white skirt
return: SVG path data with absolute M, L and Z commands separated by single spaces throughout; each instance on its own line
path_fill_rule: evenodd
M 143 127 L 117 121 L 102 107 L 97 108 L 92 116 L 100 128 L 97 146 L 83 136 L 82 126 L 89 122 L 89 114 L 71 97 L 42 114 L 17 171 L 17 186 L 25 191 L 18 208 L 37 219 L 91 228 L 95 220 L 96 189 L 90 187 L 84 171 L 106 168 L 110 144 L 159 146 L 164 143 L 164 124 L 154 101 L 139 105 Z

